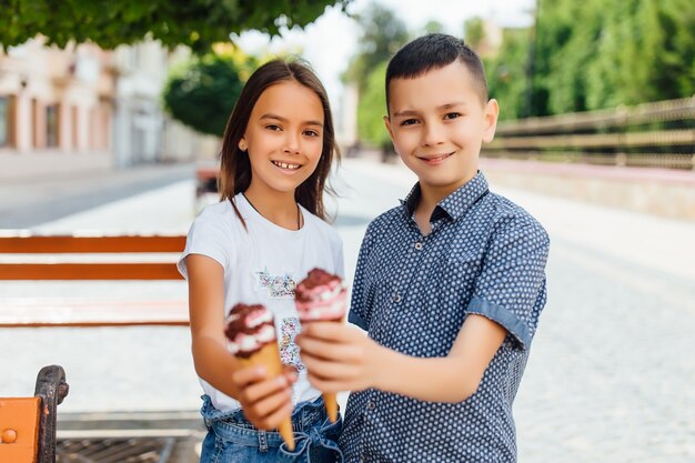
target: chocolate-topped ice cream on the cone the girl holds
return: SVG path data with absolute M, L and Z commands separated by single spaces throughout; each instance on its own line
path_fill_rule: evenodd
M 275 342 L 273 314 L 264 305 L 239 303 L 226 316 L 224 335 L 232 355 L 249 358 L 265 344 Z

